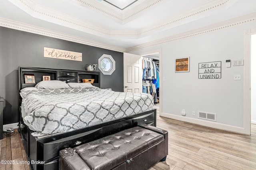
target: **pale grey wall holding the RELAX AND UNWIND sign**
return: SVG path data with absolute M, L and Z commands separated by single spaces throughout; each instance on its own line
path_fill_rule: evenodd
M 162 113 L 192 123 L 209 123 L 217 128 L 220 125 L 220 129 L 226 128 L 223 125 L 229 126 L 226 130 L 242 129 L 244 66 L 226 68 L 226 60 L 244 58 L 244 30 L 251 28 L 256 28 L 256 22 L 131 52 L 140 54 L 162 49 L 161 76 L 166 78 L 162 81 Z M 190 57 L 190 72 L 174 72 L 174 59 L 180 57 Z M 198 63 L 214 61 L 222 62 L 221 79 L 198 79 Z M 242 80 L 233 80 L 234 74 L 240 74 Z M 181 116 L 182 109 L 186 117 Z M 216 113 L 217 121 L 201 121 L 192 111 Z

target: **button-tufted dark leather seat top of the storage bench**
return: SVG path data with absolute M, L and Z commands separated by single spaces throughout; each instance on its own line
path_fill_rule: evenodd
M 164 135 L 133 127 L 75 147 L 76 153 L 92 169 L 112 169 L 164 140 Z

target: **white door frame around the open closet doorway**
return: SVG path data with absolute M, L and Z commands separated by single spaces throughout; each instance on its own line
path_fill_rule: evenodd
M 140 56 L 159 53 L 159 115 L 162 115 L 162 49 L 139 53 Z M 142 77 L 141 77 L 142 79 Z

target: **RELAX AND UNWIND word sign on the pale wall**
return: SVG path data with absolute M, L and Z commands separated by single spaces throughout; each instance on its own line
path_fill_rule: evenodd
M 198 78 L 199 79 L 221 78 L 221 61 L 199 63 Z

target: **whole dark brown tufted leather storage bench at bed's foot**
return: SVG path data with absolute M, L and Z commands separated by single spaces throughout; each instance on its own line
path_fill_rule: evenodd
M 60 151 L 60 170 L 147 170 L 168 155 L 168 132 L 138 125 Z

